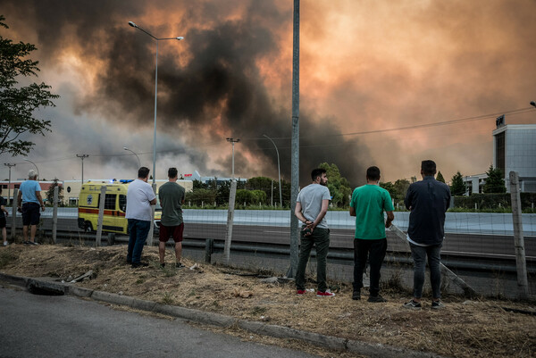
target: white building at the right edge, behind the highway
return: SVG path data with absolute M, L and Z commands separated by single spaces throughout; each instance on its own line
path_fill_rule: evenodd
M 501 116 L 502 117 L 502 116 Z M 493 130 L 493 167 L 505 175 L 510 192 L 510 171 L 517 171 L 522 192 L 536 192 L 536 124 L 504 124 Z

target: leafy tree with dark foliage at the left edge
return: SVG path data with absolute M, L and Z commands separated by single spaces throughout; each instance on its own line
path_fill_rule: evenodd
M 0 27 L 9 29 L 4 20 L 0 15 Z M 45 131 L 50 131 L 50 121 L 34 115 L 39 108 L 54 106 L 51 100 L 59 96 L 53 95 L 45 83 L 17 86 L 17 77 L 37 76 L 39 62 L 24 59 L 35 50 L 32 44 L 13 43 L 0 36 L 0 154 L 26 155 L 35 144 L 21 139 L 21 135 L 45 136 Z

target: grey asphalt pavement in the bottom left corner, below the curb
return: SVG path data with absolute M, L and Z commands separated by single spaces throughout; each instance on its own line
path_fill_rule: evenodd
M 116 311 L 73 296 L 0 287 L 0 357 L 314 357 L 198 329 L 181 319 Z

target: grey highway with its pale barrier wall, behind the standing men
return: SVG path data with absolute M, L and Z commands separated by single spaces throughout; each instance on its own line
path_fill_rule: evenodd
M 77 209 L 60 208 L 58 229 L 78 233 Z M 52 208 L 43 215 L 44 229 L 52 229 Z M 395 212 L 395 225 L 406 230 L 409 212 Z M 20 218 L 18 218 L 20 219 Z M 348 212 L 328 212 L 331 247 L 353 248 L 354 219 Z M 185 238 L 225 238 L 227 211 L 185 210 Z M 289 211 L 241 210 L 235 212 L 233 242 L 289 244 Z M 8 226 L 11 224 L 8 219 Z M 18 224 L 20 225 L 20 223 Z M 442 254 L 514 258 L 512 215 L 448 212 Z M 536 260 L 536 215 L 523 214 L 525 255 Z M 406 244 L 388 231 L 389 251 L 405 252 Z

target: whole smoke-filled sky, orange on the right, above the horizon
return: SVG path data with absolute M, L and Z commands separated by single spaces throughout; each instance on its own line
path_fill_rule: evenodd
M 158 41 L 156 179 L 180 173 L 290 179 L 291 0 L 0 0 L 0 36 L 38 47 L 38 78 L 60 96 L 12 179 L 132 179 L 152 170 Z M 536 123 L 536 1 L 302 0 L 300 184 L 321 162 L 353 187 L 419 177 L 432 159 L 447 181 L 493 161 L 495 118 Z M 536 139 L 535 139 L 536 140 Z M 0 168 L 7 179 L 7 167 Z M 151 172 L 152 174 L 152 172 Z

